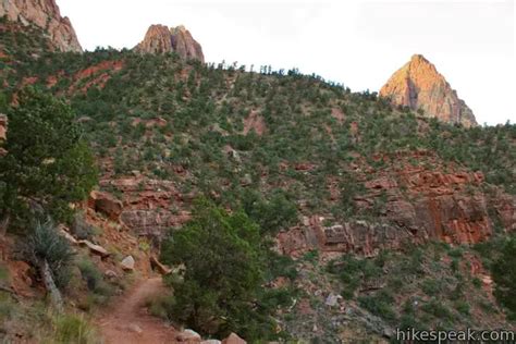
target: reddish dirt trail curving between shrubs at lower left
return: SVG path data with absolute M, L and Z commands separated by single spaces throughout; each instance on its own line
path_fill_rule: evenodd
M 97 323 L 106 344 L 161 344 L 174 343 L 175 330 L 150 316 L 146 300 L 163 293 L 161 278 L 138 282 L 132 290 L 118 297 L 100 315 Z

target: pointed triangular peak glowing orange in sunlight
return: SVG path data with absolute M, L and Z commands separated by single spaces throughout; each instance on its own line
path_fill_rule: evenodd
M 475 115 L 457 97 L 444 76 L 425 57 L 415 54 L 380 89 L 380 96 L 393 105 L 422 110 L 427 116 L 466 127 L 477 125 Z

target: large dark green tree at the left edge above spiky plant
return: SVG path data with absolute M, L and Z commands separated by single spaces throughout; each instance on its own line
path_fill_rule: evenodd
M 30 88 L 19 102 L 8 111 L 0 211 L 24 218 L 30 208 L 42 208 L 56 220 L 69 220 L 70 204 L 85 199 L 97 182 L 94 157 L 64 102 Z

